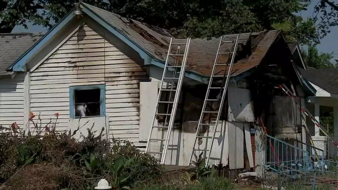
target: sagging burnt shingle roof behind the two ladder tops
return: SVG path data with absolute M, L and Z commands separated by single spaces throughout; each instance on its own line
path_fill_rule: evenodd
M 168 30 L 141 23 L 136 20 L 127 19 L 83 2 L 81 4 L 90 9 L 98 17 L 117 29 L 119 32 L 123 33 L 131 41 L 133 41 L 146 52 L 151 54 L 154 58 L 159 61 L 165 62 L 170 37 L 172 37 Z M 246 45 L 252 35 L 262 35 L 260 35 L 258 44 L 255 45 L 255 49 L 252 54 L 249 57 L 246 57 L 245 60 L 239 60 L 236 64 L 234 64 L 232 69 L 232 76 L 238 75 L 242 72 L 258 66 L 261 60 L 264 58 L 265 54 L 267 53 L 268 49 L 271 47 L 271 45 L 279 35 L 279 33 L 279 30 L 271 30 L 267 32 L 240 34 L 239 44 L 244 45 Z M 236 39 L 237 35 L 238 34 L 224 35 L 223 38 Z M 186 39 L 174 39 L 175 43 L 182 43 L 185 41 Z M 212 66 L 215 61 L 219 41 L 220 38 L 213 38 L 210 40 L 192 39 L 187 61 L 187 69 L 197 72 L 201 75 L 210 76 Z M 174 48 L 175 46 L 173 46 L 173 49 Z M 227 46 L 223 45 L 222 48 L 223 51 L 221 52 L 228 52 L 230 49 L 230 43 Z M 220 62 L 218 63 L 221 64 L 226 60 L 227 56 L 222 56 L 219 58 Z

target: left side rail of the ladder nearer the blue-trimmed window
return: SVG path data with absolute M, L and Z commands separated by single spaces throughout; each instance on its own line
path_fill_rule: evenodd
M 149 131 L 149 135 L 148 135 L 148 140 L 147 140 L 147 145 L 146 145 L 145 153 L 147 153 L 148 150 L 149 150 L 149 143 L 150 143 L 150 139 L 151 139 L 151 134 L 152 134 L 154 123 L 156 121 L 156 113 L 158 112 L 159 101 L 160 101 L 160 98 L 161 98 L 161 91 L 162 91 L 163 83 L 164 83 L 163 81 L 164 81 L 164 77 L 166 76 L 166 72 L 167 72 L 167 66 L 168 66 L 168 62 L 169 62 L 169 55 L 170 55 L 171 48 L 172 48 L 172 40 L 173 40 L 173 38 L 170 38 L 170 43 L 169 43 L 169 47 L 168 47 L 168 53 L 167 53 L 167 57 L 166 57 L 166 62 L 164 64 L 163 73 L 162 73 L 162 82 L 161 82 L 161 85 L 160 85 L 159 93 L 157 95 L 156 108 L 155 108 L 155 111 L 154 111 L 154 114 L 153 114 L 152 126 L 150 127 L 150 131 Z

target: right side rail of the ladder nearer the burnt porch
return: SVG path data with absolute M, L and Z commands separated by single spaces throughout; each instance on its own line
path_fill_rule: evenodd
M 211 155 L 211 151 L 212 151 L 212 147 L 213 147 L 215 135 L 216 135 L 216 129 L 217 129 L 219 118 L 220 118 L 221 113 L 222 113 L 224 98 L 225 98 L 225 94 L 226 94 L 227 87 L 228 87 L 228 84 L 229 84 L 229 80 L 230 80 L 230 77 L 231 77 L 232 67 L 233 67 L 234 61 L 235 61 L 235 56 L 236 56 L 236 51 L 237 51 L 237 46 L 238 46 L 238 40 L 239 40 L 239 34 L 236 38 L 234 51 L 232 53 L 230 66 L 229 66 L 229 69 L 228 69 L 225 85 L 224 85 L 224 88 L 223 88 L 222 99 L 221 99 L 221 102 L 220 102 L 220 105 L 219 105 L 219 108 L 218 108 L 218 114 L 217 114 L 216 123 L 215 123 L 215 130 L 214 130 L 214 134 L 213 134 L 213 137 L 212 137 L 212 140 L 211 140 L 211 146 L 210 146 L 209 154 L 208 154 L 207 161 L 206 161 L 206 167 L 209 165 L 210 155 Z M 230 56 L 230 54 L 229 54 L 229 56 Z

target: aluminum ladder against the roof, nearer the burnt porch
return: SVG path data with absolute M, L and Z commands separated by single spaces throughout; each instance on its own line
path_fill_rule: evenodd
M 206 160 L 205 166 L 207 167 L 209 165 L 211 150 L 212 150 L 212 147 L 213 147 L 213 144 L 214 144 L 214 140 L 215 140 L 215 135 L 216 135 L 216 129 L 217 129 L 219 118 L 221 116 L 222 107 L 223 107 L 223 104 L 224 104 L 224 98 L 225 98 L 225 94 L 226 94 L 226 91 L 227 91 L 228 83 L 229 83 L 229 80 L 230 80 L 230 75 L 231 75 L 232 67 L 233 67 L 233 64 L 234 64 L 234 60 L 235 60 L 235 55 L 236 55 L 237 46 L 238 46 L 238 39 L 239 39 L 239 34 L 237 35 L 236 41 L 223 41 L 223 36 L 220 39 L 220 42 L 219 42 L 219 45 L 218 45 L 217 54 L 216 54 L 216 58 L 215 58 L 215 62 L 214 62 L 213 69 L 212 69 L 212 72 L 211 72 L 211 76 L 210 76 L 210 79 L 209 79 L 209 85 L 208 85 L 207 93 L 206 93 L 206 96 L 204 98 L 201 115 L 200 115 L 199 120 L 198 120 L 198 125 L 197 125 L 197 130 L 196 130 L 196 138 L 195 138 L 194 146 L 193 146 L 193 149 L 192 149 L 192 152 L 191 152 L 191 156 L 190 156 L 190 160 L 189 160 L 190 164 L 191 164 L 193 155 L 194 154 L 196 155 L 195 151 L 203 151 L 206 154 L 207 154 L 207 152 L 209 152 L 208 156 L 207 156 L 207 160 Z M 222 45 L 223 44 L 229 44 L 229 43 L 231 43 L 231 48 L 230 48 L 229 52 L 220 52 L 221 49 L 222 49 Z M 232 49 L 233 49 L 233 51 L 232 51 Z M 221 54 L 228 54 L 228 59 L 231 57 L 231 61 L 230 61 L 229 64 L 228 64 L 228 61 L 225 64 L 218 64 L 218 59 L 219 59 L 219 56 Z M 217 75 L 217 73 L 216 73 L 216 67 L 218 67 L 218 66 L 222 66 L 222 68 L 228 68 L 227 74 L 225 75 L 225 73 L 224 73 L 224 75 Z M 224 72 L 226 72 L 226 70 Z M 225 84 L 224 84 L 223 87 L 222 86 L 221 87 L 212 87 L 212 84 L 213 84 L 214 80 L 223 79 L 223 81 L 224 81 L 225 77 L 226 77 L 226 80 L 225 80 Z M 219 94 L 217 96 L 217 99 L 209 99 L 209 93 L 210 93 L 211 89 L 218 90 Z M 221 95 L 221 97 L 220 97 L 220 95 Z M 217 111 L 207 111 L 206 110 L 207 102 L 215 102 L 215 101 L 219 102 L 219 99 L 220 99 L 220 104 L 218 106 L 218 110 Z M 214 113 L 214 114 L 217 113 L 216 123 L 215 124 L 212 124 L 212 123 L 203 123 L 203 116 L 204 116 L 204 114 L 211 114 L 211 113 Z M 210 128 L 210 126 L 215 126 L 215 131 L 213 133 L 213 136 L 199 136 L 199 131 L 201 129 L 201 126 L 208 126 L 209 128 Z M 196 142 L 198 142 L 198 139 L 201 139 L 201 138 L 211 139 L 211 146 L 210 146 L 209 150 L 207 149 L 207 143 L 206 143 L 206 148 L 205 149 L 196 148 L 196 144 L 198 144 Z

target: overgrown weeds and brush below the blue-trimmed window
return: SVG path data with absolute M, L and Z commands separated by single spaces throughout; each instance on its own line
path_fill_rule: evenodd
M 40 117 L 31 117 L 31 122 L 34 130 L 27 134 L 16 124 L 0 126 L 0 189 L 94 189 L 102 177 L 114 189 L 130 189 L 163 173 L 157 159 L 130 142 L 108 142 L 103 130 L 95 136 L 89 128 L 79 142 L 73 138 L 77 131 L 56 133 L 56 121 L 41 126 Z

